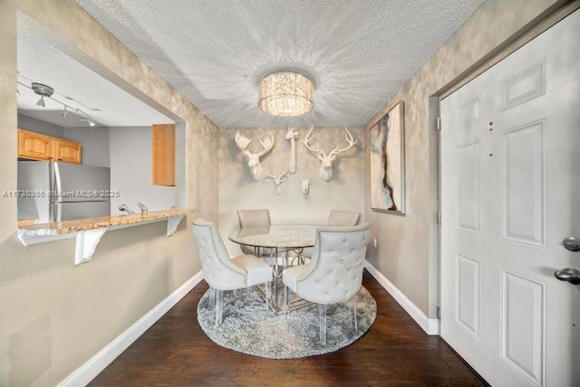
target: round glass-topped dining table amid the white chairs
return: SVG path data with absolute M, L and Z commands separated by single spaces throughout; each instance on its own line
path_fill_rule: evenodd
M 275 280 L 271 283 L 270 296 L 266 297 L 264 287 L 258 287 L 258 291 L 275 313 L 285 311 L 282 271 L 294 264 L 304 263 L 301 252 L 314 246 L 318 227 L 313 224 L 271 224 L 239 229 L 229 235 L 230 241 L 253 247 L 255 255 L 272 267 Z M 295 294 L 290 297 L 290 309 L 304 307 L 306 304 L 304 299 Z

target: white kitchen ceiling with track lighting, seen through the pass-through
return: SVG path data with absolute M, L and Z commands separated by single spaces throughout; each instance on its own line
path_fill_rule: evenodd
M 102 127 L 145 127 L 173 123 L 128 92 L 75 61 L 59 49 L 59 43 L 30 16 L 18 14 L 17 65 L 18 112 L 59 127 L 88 127 L 86 116 L 52 99 L 36 106 L 40 96 L 30 90 L 38 82 L 54 89 L 53 99 L 81 109 Z M 84 119 L 83 119 L 84 118 Z

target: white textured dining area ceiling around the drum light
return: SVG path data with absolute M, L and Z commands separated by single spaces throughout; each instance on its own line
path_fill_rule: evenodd
M 219 127 L 362 126 L 483 0 L 77 0 Z M 266 74 L 314 80 L 314 110 L 256 106 Z

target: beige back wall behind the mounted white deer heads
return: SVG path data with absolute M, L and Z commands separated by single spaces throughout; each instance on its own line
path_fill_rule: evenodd
M 237 210 L 267 208 L 273 223 L 318 223 L 328 220 L 331 210 L 347 210 L 364 214 L 364 155 L 366 138 L 362 127 L 349 128 L 358 143 L 343 152 L 333 162 L 333 179 L 324 182 L 318 176 L 320 161 L 302 144 L 309 127 L 296 127 L 296 173 L 287 175 L 280 194 L 275 194 L 272 180 L 255 182 L 249 175 L 247 157 L 236 146 L 235 128 L 219 130 L 219 227 L 224 236 L 238 227 Z M 262 157 L 262 165 L 271 174 L 289 168 L 290 142 L 285 140 L 286 128 L 244 128 L 242 134 L 252 138 L 248 148 L 260 149 L 259 139 L 275 135 L 275 146 Z M 347 146 L 344 127 L 315 127 L 312 146 L 325 152 L 335 146 Z M 310 193 L 302 193 L 301 179 L 310 178 Z M 226 241 L 231 254 L 240 252 L 237 245 Z

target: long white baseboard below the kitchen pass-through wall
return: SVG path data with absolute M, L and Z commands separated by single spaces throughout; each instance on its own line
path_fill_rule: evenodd
M 192 288 L 195 288 L 203 279 L 201 271 L 189 278 L 183 285 L 162 300 L 158 305 L 153 307 L 145 316 L 142 316 L 135 324 L 127 328 L 121 335 L 118 335 L 111 343 L 102 348 L 99 353 L 92 356 L 88 362 L 82 364 L 73 373 L 66 377 L 58 384 L 60 387 L 83 386 L 92 381 L 92 379 L 102 372 L 113 360 L 117 358 L 125 349 L 137 340 L 146 330 L 165 315 L 171 307 Z

